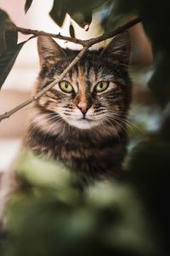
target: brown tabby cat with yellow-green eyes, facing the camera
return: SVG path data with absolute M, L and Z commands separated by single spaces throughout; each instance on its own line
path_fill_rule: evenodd
M 42 90 L 75 58 L 52 38 L 37 39 Z M 83 177 L 119 177 L 126 153 L 126 119 L 131 102 L 128 32 L 105 49 L 88 50 L 62 81 L 35 102 L 26 145 L 71 166 Z

